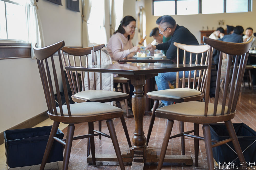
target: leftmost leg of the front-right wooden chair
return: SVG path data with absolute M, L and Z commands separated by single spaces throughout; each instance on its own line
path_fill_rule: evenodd
M 166 154 L 167 146 L 170 140 L 171 132 L 173 128 L 173 120 L 167 120 L 166 127 L 165 127 L 165 132 L 164 132 L 164 139 L 162 143 L 162 148 L 159 156 L 159 161 L 157 165 L 157 170 L 161 170 L 163 163 L 164 163 L 164 157 Z

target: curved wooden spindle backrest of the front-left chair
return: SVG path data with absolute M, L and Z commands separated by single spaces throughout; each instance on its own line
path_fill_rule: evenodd
M 40 74 L 42 86 L 44 89 L 48 111 L 50 114 L 57 115 L 57 105 L 56 105 L 56 101 L 57 101 L 59 103 L 59 111 L 61 116 L 63 116 L 63 108 L 62 108 L 62 101 L 61 101 L 61 95 L 60 95 L 60 89 L 59 89 L 59 81 L 57 78 L 56 64 L 54 61 L 57 58 L 54 59 L 53 54 L 58 52 L 61 79 L 62 79 L 62 82 L 65 82 L 66 80 L 65 80 L 64 69 L 63 69 L 61 53 L 60 53 L 60 49 L 64 45 L 65 45 L 64 41 L 61 41 L 59 43 L 56 43 L 44 48 L 36 48 L 36 45 L 34 46 L 34 52 L 37 59 L 39 74 Z M 51 69 L 48 64 L 49 62 L 48 58 L 51 58 L 50 59 L 51 66 L 52 66 Z M 54 82 L 52 82 L 52 75 L 54 78 Z M 56 90 L 57 100 L 55 99 L 54 90 Z M 71 116 L 66 83 L 63 83 L 63 90 L 64 90 L 65 100 L 67 104 L 68 115 Z

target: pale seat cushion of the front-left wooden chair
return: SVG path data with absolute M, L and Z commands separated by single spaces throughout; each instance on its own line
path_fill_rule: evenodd
M 110 113 L 110 112 L 122 112 L 122 109 L 99 102 L 83 102 L 83 103 L 74 103 L 70 104 L 70 113 L 72 116 L 86 116 L 93 114 L 101 113 Z M 63 114 L 68 116 L 67 105 L 62 106 Z M 60 108 L 57 107 L 57 114 L 60 115 Z

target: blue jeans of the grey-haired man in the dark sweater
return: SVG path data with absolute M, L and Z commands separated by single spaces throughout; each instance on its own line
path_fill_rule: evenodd
M 185 71 L 186 78 L 188 77 L 188 73 L 189 73 L 189 71 Z M 197 74 L 199 75 L 198 71 L 197 71 Z M 177 72 L 168 72 L 168 73 L 159 73 L 158 76 L 155 76 L 156 85 L 158 87 L 158 90 L 169 89 L 168 81 L 170 81 L 171 83 L 173 81 L 176 81 L 176 75 L 177 75 Z M 179 78 L 182 78 L 182 76 L 183 76 L 183 72 L 181 71 L 181 72 L 179 72 Z M 194 71 L 191 71 L 191 77 L 194 77 Z M 164 103 L 165 106 L 172 104 L 172 101 L 162 100 L 162 102 Z

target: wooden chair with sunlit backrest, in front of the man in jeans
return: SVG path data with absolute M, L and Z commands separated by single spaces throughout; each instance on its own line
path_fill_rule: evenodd
M 179 49 L 184 50 L 183 53 L 183 64 L 186 63 L 186 52 L 190 53 L 190 61 L 189 63 L 192 64 L 192 56 L 196 56 L 195 63 L 193 64 L 203 64 L 204 59 L 205 63 L 208 62 L 208 55 L 210 46 L 209 45 L 185 45 L 180 43 L 175 43 L 174 45 L 178 48 L 177 52 L 177 61 L 179 61 Z M 201 57 L 202 56 L 202 57 Z M 205 57 L 206 56 L 206 57 Z M 194 71 L 195 73 L 197 71 Z M 199 74 L 194 77 L 191 77 L 191 71 L 189 71 L 189 77 L 185 78 L 185 71 L 183 71 L 183 77 L 180 80 L 179 72 L 177 72 L 176 78 L 176 89 L 166 89 L 166 90 L 158 90 L 152 91 L 146 94 L 148 98 L 154 99 L 154 106 L 151 115 L 150 125 L 148 128 L 147 138 L 146 138 L 146 145 L 148 145 L 152 128 L 155 121 L 155 110 L 158 108 L 159 100 L 166 100 L 166 101 L 173 101 L 176 103 L 186 102 L 186 101 L 197 101 L 201 100 L 204 97 L 204 88 L 205 88 L 205 75 L 206 70 L 198 71 Z M 181 83 L 179 83 L 181 81 Z M 185 88 L 185 84 L 188 83 L 188 87 Z M 193 85 L 191 85 L 193 83 Z M 184 132 L 184 122 L 179 122 L 180 125 L 180 132 Z M 185 138 L 181 136 L 181 146 L 182 146 L 182 155 L 185 155 Z

